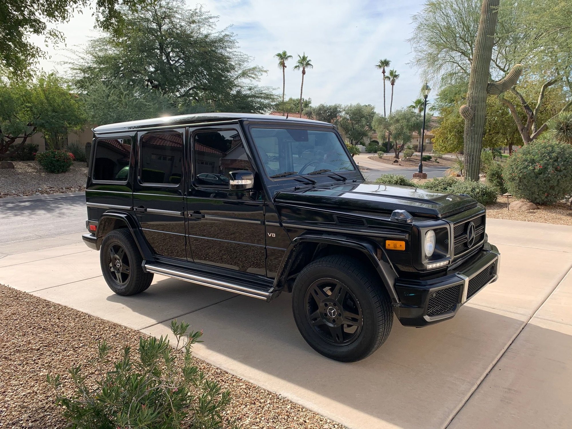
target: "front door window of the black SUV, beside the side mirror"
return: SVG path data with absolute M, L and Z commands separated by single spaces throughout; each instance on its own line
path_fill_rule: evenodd
M 199 186 L 228 188 L 229 172 L 252 171 L 237 130 L 194 134 L 194 182 Z

